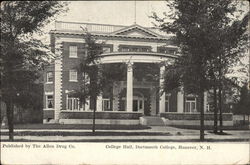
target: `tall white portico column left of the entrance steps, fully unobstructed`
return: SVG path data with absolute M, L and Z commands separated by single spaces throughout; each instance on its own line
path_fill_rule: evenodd
M 133 63 L 127 64 L 127 112 L 133 111 Z

